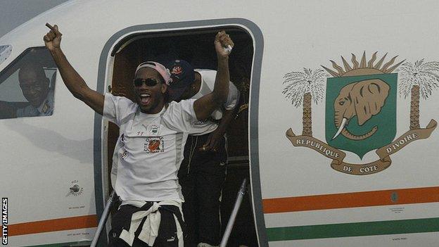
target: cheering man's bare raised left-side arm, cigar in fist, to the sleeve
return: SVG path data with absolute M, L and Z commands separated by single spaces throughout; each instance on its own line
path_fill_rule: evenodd
M 53 27 L 46 24 L 47 27 L 51 29 L 44 36 L 44 44 L 46 44 L 47 49 L 51 52 L 53 60 L 58 66 L 58 70 L 63 78 L 65 86 L 69 91 L 75 96 L 75 98 L 84 101 L 87 106 L 90 106 L 96 113 L 102 115 L 103 113 L 103 94 L 99 94 L 97 91 L 91 90 L 84 79 L 78 74 L 75 68 L 70 65 L 69 61 L 65 57 L 63 51 L 61 50 L 61 32 L 58 31 L 58 26 Z

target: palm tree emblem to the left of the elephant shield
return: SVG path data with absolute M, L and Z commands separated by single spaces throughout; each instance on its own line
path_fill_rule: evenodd
M 303 106 L 303 131 L 305 136 L 312 136 L 312 100 L 318 103 L 323 100 L 326 74 L 322 69 L 293 71 L 284 75 L 286 87 L 282 91 L 286 99 L 291 100 L 295 108 Z

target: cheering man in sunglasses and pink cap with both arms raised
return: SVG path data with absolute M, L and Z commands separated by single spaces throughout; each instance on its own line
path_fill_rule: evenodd
M 53 27 L 44 43 L 73 96 L 120 127 L 115 191 L 122 201 L 113 215 L 110 246 L 183 246 L 182 194 L 177 172 L 195 125 L 224 103 L 229 94 L 229 51 L 225 32 L 215 37 L 218 69 L 215 88 L 197 100 L 165 102 L 170 72 L 160 63 L 141 63 L 133 84 L 136 102 L 99 94 L 87 87 L 61 50 L 61 32 Z

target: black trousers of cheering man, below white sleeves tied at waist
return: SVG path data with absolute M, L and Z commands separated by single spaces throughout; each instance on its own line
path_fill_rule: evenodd
M 131 224 L 131 217 L 133 213 L 139 210 L 148 210 L 151 208 L 153 202 L 148 202 L 141 208 L 136 208 L 133 205 L 122 205 L 119 210 L 113 215 L 111 219 L 111 230 L 108 233 L 108 246 L 110 247 L 127 247 L 128 243 L 119 238 L 122 229 L 129 230 Z M 180 225 L 182 226 L 183 234 L 185 234 L 185 225 L 183 222 L 182 214 L 177 206 L 174 205 L 162 205 L 158 209 L 160 212 L 160 227 L 158 229 L 158 236 L 155 239 L 154 247 L 178 247 L 179 239 L 177 238 L 177 225 L 174 220 L 174 215 L 177 216 Z M 152 247 L 137 239 L 141 232 L 141 226 L 144 224 L 146 218 L 141 222 L 139 229 L 134 236 L 136 238 L 133 242 L 133 247 Z

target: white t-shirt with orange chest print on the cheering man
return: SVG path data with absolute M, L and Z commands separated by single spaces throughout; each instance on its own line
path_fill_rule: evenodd
M 194 101 L 173 101 L 146 114 L 125 97 L 105 95 L 103 116 L 120 127 L 113 169 L 122 201 L 184 201 L 177 172 L 188 134 L 201 131 L 194 125 Z

